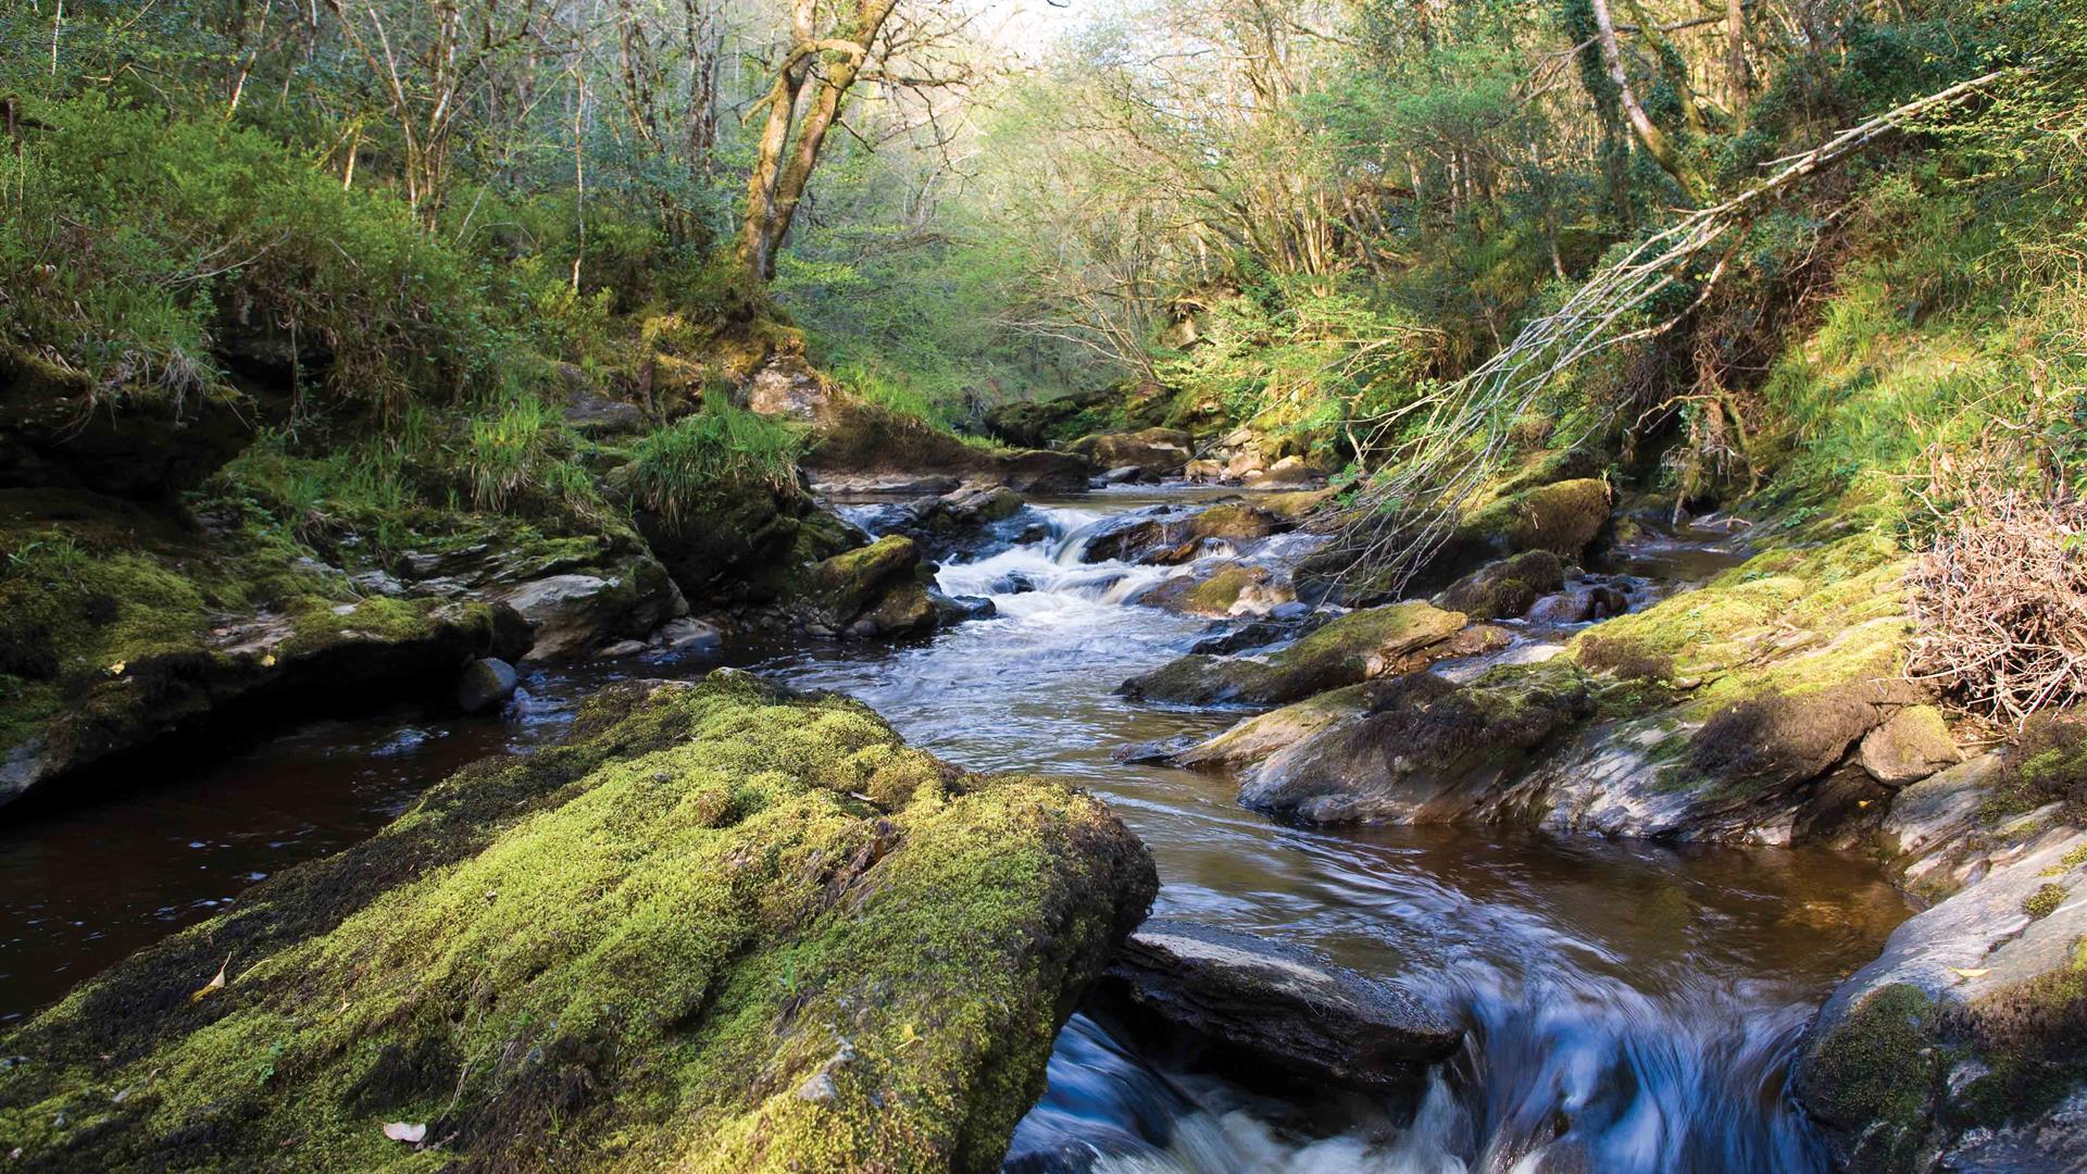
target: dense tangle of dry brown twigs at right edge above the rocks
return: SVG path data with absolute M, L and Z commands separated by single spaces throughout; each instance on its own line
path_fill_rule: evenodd
M 2068 493 L 1970 487 L 1910 577 L 1908 673 L 1993 721 L 2087 696 L 2087 506 Z

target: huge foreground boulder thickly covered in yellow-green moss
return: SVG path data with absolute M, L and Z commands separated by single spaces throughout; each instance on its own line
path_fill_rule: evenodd
M 1154 890 L 1098 800 L 962 775 L 854 702 L 620 685 L 563 746 L 459 771 L 8 1032 L 0 1147 L 94 1172 L 995 1170 Z

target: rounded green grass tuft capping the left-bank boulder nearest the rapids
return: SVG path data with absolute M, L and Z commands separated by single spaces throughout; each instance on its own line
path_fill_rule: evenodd
M 718 489 L 795 487 L 806 439 L 801 426 L 707 401 L 637 443 L 630 489 L 647 510 L 678 524 Z

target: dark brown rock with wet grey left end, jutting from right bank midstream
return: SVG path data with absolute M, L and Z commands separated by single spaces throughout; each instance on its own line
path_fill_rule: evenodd
M 1277 750 L 1242 775 L 1240 802 L 1313 823 L 1428 823 L 1467 815 L 1559 731 L 1592 714 L 1559 662 L 1496 668 L 1469 685 L 1411 673 L 1367 710 Z

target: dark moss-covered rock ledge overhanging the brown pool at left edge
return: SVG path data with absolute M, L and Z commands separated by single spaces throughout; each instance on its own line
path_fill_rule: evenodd
M 0 491 L 0 802 L 169 735 L 447 696 L 528 648 L 505 606 L 340 570 L 92 493 Z

